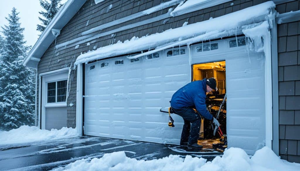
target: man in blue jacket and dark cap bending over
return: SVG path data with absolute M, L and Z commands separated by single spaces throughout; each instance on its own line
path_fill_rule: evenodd
M 215 78 L 204 78 L 193 81 L 177 90 L 171 99 L 171 107 L 174 112 L 182 116 L 184 125 L 182 128 L 180 145 L 201 149 L 202 145 L 197 144 L 201 125 L 201 116 L 213 121 L 216 126 L 219 122 L 206 109 L 206 93 L 217 90 Z M 196 113 L 193 108 L 199 112 Z

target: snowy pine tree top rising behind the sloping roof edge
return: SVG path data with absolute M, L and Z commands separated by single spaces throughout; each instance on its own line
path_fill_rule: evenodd
M 37 25 L 37 30 L 43 32 L 47 25 L 50 23 L 51 19 L 55 16 L 59 8 L 61 7 L 60 1 L 61 0 L 40 0 L 41 6 L 46 10 L 46 12 L 41 11 L 39 12 L 45 19 L 38 17 L 38 19 L 42 22 L 42 25 Z

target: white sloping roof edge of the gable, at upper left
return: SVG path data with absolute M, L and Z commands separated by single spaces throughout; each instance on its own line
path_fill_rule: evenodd
M 38 67 L 42 55 L 46 52 L 51 43 L 60 34 L 60 30 L 77 13 L 86 0 L 68 0 L 55 14 L 51 22 L 47 25 L 35 45 L 23 61 L 23 65 L 29 68 Z

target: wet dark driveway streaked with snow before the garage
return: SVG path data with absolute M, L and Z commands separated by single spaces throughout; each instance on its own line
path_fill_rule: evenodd
M 202 143 L 203 144 L 203 143 Z M 105 153 L 125 151 L 138 160 L 152 160 L 169 155 L 192 155 L 211 161 L 223 153 L 204 145 L 202 150 L 178 145 L 146 143 L 82 136 L 55 141 L 0 146 L 0 170 L 51 170 L 83 158 L 101 158 Z

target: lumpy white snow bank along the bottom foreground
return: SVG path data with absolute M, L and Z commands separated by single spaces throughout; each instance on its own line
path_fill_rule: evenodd
M 113 152 L 104 154 L 102 158 L 81 159 L 68 164 L 65 167 L 54 169 L 93 171 L 93 170 L 172 170 L 172 171 L 270 171 L 270 170 L 300 170 L 300 164 L 289 163 L 281 160 L 274 152 L 264 147 L 249 158 L 246 152 L 240 148 L 230 148 L 225 150 L 222 157 L 217 156 L 213 161 L 206 162 L 206 159 L 192 157 L 187 155 L 181 158 L 179 155 L 170 155 L 169 157 L 154 160 L 137 160 L 128 158 L 125 152 Z

